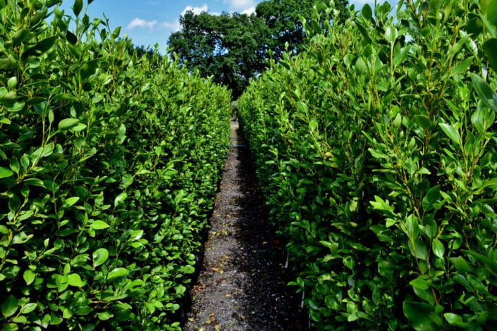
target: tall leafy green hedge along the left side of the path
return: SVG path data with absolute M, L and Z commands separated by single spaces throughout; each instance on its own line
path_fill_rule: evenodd
M 0 0 L 0 329 L 179 330 L 230 94 L 60 3 Z

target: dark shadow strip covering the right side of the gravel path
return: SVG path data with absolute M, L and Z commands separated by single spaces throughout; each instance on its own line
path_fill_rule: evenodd
M 284 268 L 283 248 L 268 221 L 248 147 L 240 148 L 238 157 L 242 165 L 240 177 L 246 183 L 245 196 L 237 199 L 238 206 L 243 206 L 240 211 L 243 222 L 239 223 L 238 232 L 243 260 L 240 259 L 238 268 L 250 275 L 243 288 L 250 304 L 242 310 L 245 316 L 267 323 L 264 329 L 260 329 L 259 323 L 251 325 L 254 327 L 252 330 L 307 330 L 299 309 L 300 298 L 286 286 L 290 281 L 290 270 Z

